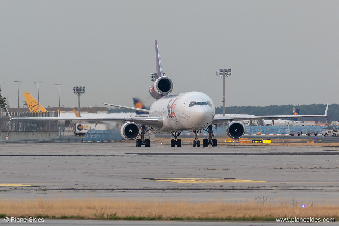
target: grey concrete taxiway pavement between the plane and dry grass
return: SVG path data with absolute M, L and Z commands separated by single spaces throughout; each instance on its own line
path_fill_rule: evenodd
M 338 157 L 314 146 L 2 144 L 0 198 L 332 203 Z

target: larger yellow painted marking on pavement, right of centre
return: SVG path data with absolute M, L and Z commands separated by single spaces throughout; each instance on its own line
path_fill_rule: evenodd
M 180 178 L 180 179 L 152 179 L 154 181 L 167 181 L 176 183 L 271 183 L 268 181 L 251 181 L 241 179 L 224 179 L 224 178 Z

